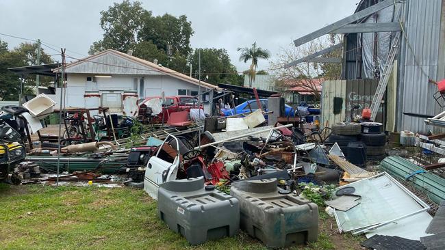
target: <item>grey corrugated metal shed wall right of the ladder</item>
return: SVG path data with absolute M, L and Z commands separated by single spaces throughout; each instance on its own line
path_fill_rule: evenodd
M 420 133 L 435 130 L 432 126 L 424 124 L 424 117 L 416 115 L 436 115 L 442 111 L 433 100 L 437 86 L 428 83 L 428 77 L 440 80 L 437 79 L 437 61 L 441 12 L 442 0 L 409 0 L 405 3 L 404 23 L 407 40 L 403 36 L 401 43 L 398 130 Z

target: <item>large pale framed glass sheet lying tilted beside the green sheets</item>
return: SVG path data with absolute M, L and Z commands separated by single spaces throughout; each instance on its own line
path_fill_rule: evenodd
M 335 211 L 338 225 L 343 232 L 392 221 L 425 208 L 402 189 L 396 180 L 387 176 L 387 173 L 346 186 L 355 187 L 354 194 L 360 195 L 361 199 L 357 200 L 359 205 L 348 211 Z

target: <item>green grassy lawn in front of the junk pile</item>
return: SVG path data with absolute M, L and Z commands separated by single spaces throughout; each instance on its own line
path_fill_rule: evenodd
M 320 219 L 318 242 L 291 249 L 361 249 Z M 266 249 L 244 233 L 190 246 L 156 216 L 142 190 L 0 184 L 1 249 Z

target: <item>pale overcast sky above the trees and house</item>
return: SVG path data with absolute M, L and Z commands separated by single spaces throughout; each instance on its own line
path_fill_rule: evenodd
M 116 0 L 114 0 L 116 1 Z M 114 1 L 0 0 L 0 33 L 63 46 L 73 57 L 87 55 L 92 42 L 102 38 L 101 10 Z M 238 61 L 238 47 L 257 42 L 275 57 L 292 40 L 353 13 L 359 0 L 162 0 L 142 1 L 154 15 L 185 14 L 192 22 L 193 48 L 225 48 L 238 71 L 249 64 Z M 23 40 L 0 35 L 10 48 Z M 49 54 L 55 54 L 44 47 Z M 80 53 L 75 54 L 75 53 Z M 54 57 L 55 59 L 60 59 Z M 268 68 L 259 61 L 259 69 Z

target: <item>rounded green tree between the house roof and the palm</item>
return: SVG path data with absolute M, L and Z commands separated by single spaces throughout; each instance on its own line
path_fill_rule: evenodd
M 240 85 L 236 67 L 231 64 L 230 57 L 224 48 L 196 48 L 190 57 L 194 75 L 198 79 L 199 50 L 201 50 L 201 80 L 209 77 L 208 83 L 230 83 Z M 235 82 L 233 82 L 235 81 Z

